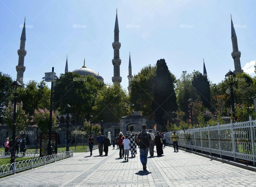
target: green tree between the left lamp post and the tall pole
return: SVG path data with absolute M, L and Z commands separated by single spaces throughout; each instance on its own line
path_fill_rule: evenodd
M 44 84 L 44 89 L 40 89 L 41 83 L 29 81 L 26 88 L 21 89 L 18 95 L 18 101 L 23 102 L 23 110 L 30 116 L 34 114 L 35 109 L 50 109 L 51 90 L 45 82 L 42 84 Z

